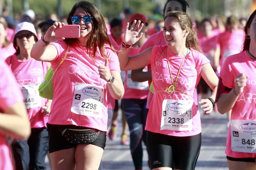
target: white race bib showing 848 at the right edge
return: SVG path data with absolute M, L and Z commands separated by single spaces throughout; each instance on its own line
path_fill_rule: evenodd
M 231 149 L 256 153 L 256 120 L 231 120 Z

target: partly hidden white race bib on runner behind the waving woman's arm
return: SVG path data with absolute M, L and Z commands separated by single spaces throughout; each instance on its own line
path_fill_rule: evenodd
M 143 71 L 146 72 L 146 71 L 148 71 L 148 69 L 144 68 Z M 133 82 L 131 79 L 131 73 L 132 73 L 132 70 L 127 71 L 127 80 L 126 80 L 127 87 L 129 87 L 131 89 L 148 90 L 148 81 Z

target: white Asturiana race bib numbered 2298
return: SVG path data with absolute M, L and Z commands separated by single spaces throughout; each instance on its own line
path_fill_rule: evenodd
M 76 83 L 71 112 L 102 118 L 104 88 L 97 85 Z

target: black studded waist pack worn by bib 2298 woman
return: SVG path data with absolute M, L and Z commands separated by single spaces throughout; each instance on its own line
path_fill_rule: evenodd
M 71 144 L 91 144 L 100 134 L 97 129 L 58 129 L 61 135 Z

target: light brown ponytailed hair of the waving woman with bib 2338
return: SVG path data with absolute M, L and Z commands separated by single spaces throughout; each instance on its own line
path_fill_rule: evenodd
M 188 36 L 186 38 L 186 47 L 193 48 L 196 51 L 201 52 L 201 49 L 197 42 L 196 31 L 192 28 L 193 24 L 188 14 L 182 11 L 169 11 L 167 14 L 167 18 L 170 17 L 175 17 L 178 20 L 180 28 L 182 30 L 185 30 L 187 27 L 190 29 Z

